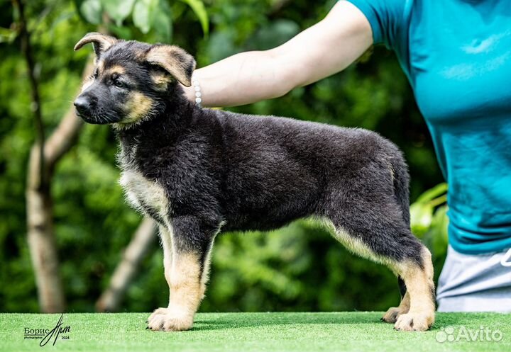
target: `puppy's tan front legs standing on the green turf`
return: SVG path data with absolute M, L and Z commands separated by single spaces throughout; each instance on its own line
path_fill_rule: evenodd
M 158 308 L 150 315 L 150 329 L 181 331 L 192 327 L 204 295 L 206 261 L 214 239 L 209 228 L 214 227 L 197 218 L 179 217 L 172 220 L 172 228 L 160 229 L 170 298 L 167 308 Z

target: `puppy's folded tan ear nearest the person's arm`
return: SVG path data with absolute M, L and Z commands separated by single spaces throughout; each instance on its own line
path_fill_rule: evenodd
M 153 45 L 145 55 L 145 60 L 171 74 L 183 86 L 192 85 L 195 59 L 185 50 L 174 45 Z

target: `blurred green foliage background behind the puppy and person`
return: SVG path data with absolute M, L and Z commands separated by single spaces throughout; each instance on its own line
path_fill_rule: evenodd
M 236 52 L 275 47 L 323 18 L 335 1 L 30 0 L 21 4 L 23 13 L 18 2 L 0 1 L 0 312 L 45 311 L 38 302 L 34 248 L 27 241 L 29 154 L 38 136 L 35 114 L 40 111 L 48 138 L 72 106 L 92 57 L 92 47 L 72 50 L 84 33 L 172 42 L 202 67 Z M 31 66 L 23 38 L 31 47 Z M 344 47 L 339 43 L 331 50 Z M 410 164 L 412 229 L 432 250 L 438 276 L 446 252 L 446 186 L 392 52 L 374 47 L 317 84 L 229 110 L 365 127 L 395 142 Z M 60 310 L 94 312 L 141 216 L 123 201 L 111 128 L 83 125 L 70 144 L 48 176 L 56 280 L 65 297 Z M 149 242 L 138 259 L 115 310 L 147 312 L 167 305 L 158 241 Z M 322 227 L 300 220 L 273 232 L 221 234 L 200 310 L 386 310 L 398 300 L 387 268 L 353 256 Z

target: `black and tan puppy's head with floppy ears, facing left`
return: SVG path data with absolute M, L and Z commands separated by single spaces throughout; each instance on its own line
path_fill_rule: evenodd
M 149 45 L 88 33 L 77 45 L 94 45 L 94 74 L 75 100 L 77 115 L 87 123 L 129 127 L 165 107 L 177 82 L 191 85 L 194 58 L 173 45 Z

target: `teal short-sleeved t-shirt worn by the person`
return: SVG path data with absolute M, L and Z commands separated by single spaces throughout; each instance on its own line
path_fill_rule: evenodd
M 511 0 L 348 0 L 394 50 L 449 183 L 449 242 L 511 247 Z

